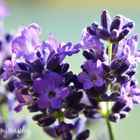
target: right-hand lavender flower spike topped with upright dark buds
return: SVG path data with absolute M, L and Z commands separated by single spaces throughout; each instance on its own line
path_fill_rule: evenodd
M 126 117 L 133 104 L 140 104 L 140 88 L 135 80 L 140 61 L 138 36 L 127 37 L 133 28 L 134 22 L 130 19 L 119 15 L 111 20 L 109 13 L 103 11 L 101 25 L 93 23 L 84 31 L 79 45 L 86 61 L 78 80 L 93 104 L 86 111 L 87 117 L 104 114 L 92 102 L 111 102 L 111 110 L 106 110 L 113 122 Z

